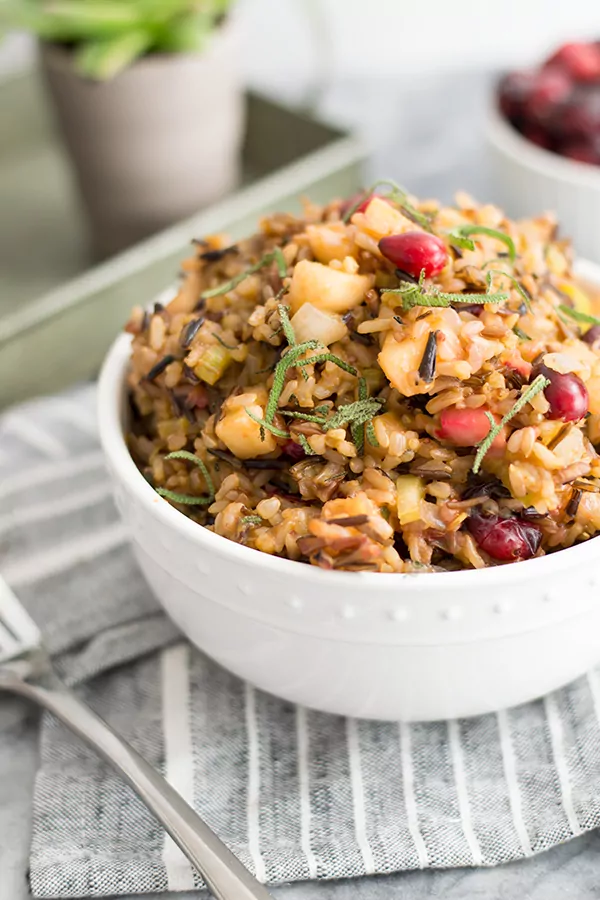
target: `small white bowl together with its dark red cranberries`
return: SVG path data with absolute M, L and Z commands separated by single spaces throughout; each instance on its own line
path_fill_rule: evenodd
M 556 213 L 600 261 L 600 41 L 568 43 L 499 82 L 487 126 L 497 200 L 512 216 Z

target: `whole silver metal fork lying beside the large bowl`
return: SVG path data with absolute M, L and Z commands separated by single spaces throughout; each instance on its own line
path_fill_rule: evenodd
M 0 578 L 0 690 L 34 700 L 96 750 L 146 804 L 218 900 L 272 900 L 200 816 L 58 678 L 40 631 Z

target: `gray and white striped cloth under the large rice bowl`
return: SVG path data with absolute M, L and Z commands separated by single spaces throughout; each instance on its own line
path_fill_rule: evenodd
M 0 554 L 65 678 L 263 880 L 495 865 L 600 823 L 597 672 L 498 715 L 407 726 L 295 708 L 182 643 L 118 522 L 93 388 L 0 418 Z M 31 886 L 199 886 L 128 788 L 49 717 Z

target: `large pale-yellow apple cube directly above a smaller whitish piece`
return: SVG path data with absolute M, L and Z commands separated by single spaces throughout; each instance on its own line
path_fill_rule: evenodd
M 369 275 L 353 275 L 303 259 L 294 269 L 287 300 L 293 313 L 305 303 L 325 312 L 345 313 L 358 306 L 370 287 Z

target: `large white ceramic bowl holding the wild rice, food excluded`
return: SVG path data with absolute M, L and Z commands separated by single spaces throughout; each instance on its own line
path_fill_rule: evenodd
M 600 284 L 600 269 L 581 266 Z M 100 376 L 102 445 L 148 584 L 187 637 L 287 700 L 394 720 L 539 697 L 600 660 L 600 540 L 542 559 L 422 575 L 328 572 L 228 541 L 158 496 L 123 438 L 130 338 Z

